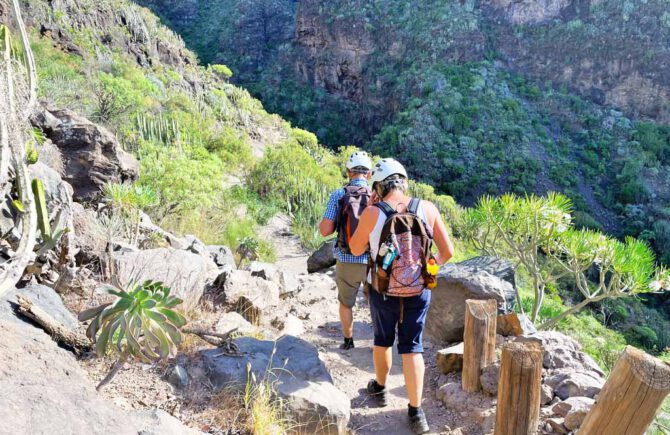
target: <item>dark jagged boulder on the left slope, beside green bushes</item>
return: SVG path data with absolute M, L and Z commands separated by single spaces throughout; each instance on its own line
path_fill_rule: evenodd
M 33 124 L 60 149 L 65 164 L 64 179 L 74 187 L 76 201 L 93 201 L 108 182 L 135 181 L 139 165 L 123 151 L 109 130 L 63 109 L 44 108 Z

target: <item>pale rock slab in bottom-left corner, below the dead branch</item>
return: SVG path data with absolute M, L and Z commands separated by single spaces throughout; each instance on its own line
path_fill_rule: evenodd
M 77 320 L 50 288 L 29 286 L 0 298 L 0 421 L 3 433 L 195 435 L 163 411 L 128 416 L 99 396 L 74 356 L 16 317 L 20 293 L 68 327 Z M 156 418 L 148 418 L 154 413 Z

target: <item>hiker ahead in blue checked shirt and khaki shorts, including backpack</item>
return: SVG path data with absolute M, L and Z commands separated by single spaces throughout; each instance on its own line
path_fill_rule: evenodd
M 330 195 L 319 231 L 327 237 L 337 231 L 335 245 L 335 283 L 340 301 L 340 322 L 344 342 L 340 349 L 354 347 L 354 315 L 358 289 L 365 282 L 368 255 L 365 252 L 353 255 L 349 240 L 356 231 L 361 213 L 370 201 L 368 178 L 372 160 L 364 151 L 353 153 L 346 163 L 349 183 Z

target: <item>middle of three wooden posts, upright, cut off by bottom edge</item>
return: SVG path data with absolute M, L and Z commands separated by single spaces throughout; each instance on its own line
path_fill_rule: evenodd
M 544 351 L 539 343 L 503 346 L 494 435 L 537 433 Z

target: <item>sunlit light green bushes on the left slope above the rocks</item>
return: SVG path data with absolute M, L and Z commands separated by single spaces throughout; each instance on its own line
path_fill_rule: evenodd
M 139 186 L 147 186 L 158 198 L 158 205 L 145 209 L 153 218 L 174 231 L 234 249 L 240 240 L 255 235 L 259 218 L 252 207 L 248 216 L 235 214 L 248 199 L 230 191 L 229 177 L 244 178 L 253 167 L 254 141 L 273 144 L 259 139 L 263 134 L 279 142 L 291 129 L 267 114 L 248 92 L 228 84 L 230 71 L 223 65 L 141 66 L 123 47 L 102 43 L 98 32 L 114 39 L 137 28 L 148 32 L 146 38 L 160 38 L 184 50 L 147 10 L 122 0 L 113 3 L 105 7 L 116 7 L 116 13 L 137 21 L 125 26 L 121 20 L 108 22 L 108 28 L 94 29 L 75 24 L 68 14 L 55 14 L 79 52 L 66 53 L 50 38 L 33 35 L 40 95 L 107 126 L 137 156 Z M 98 12 L 79 11 L 92 17 Z M 79 20 L 87 22 L 85 16 Z M 264 259 L 273 256 L 267 243 L 261 244 L 260 252 Z

